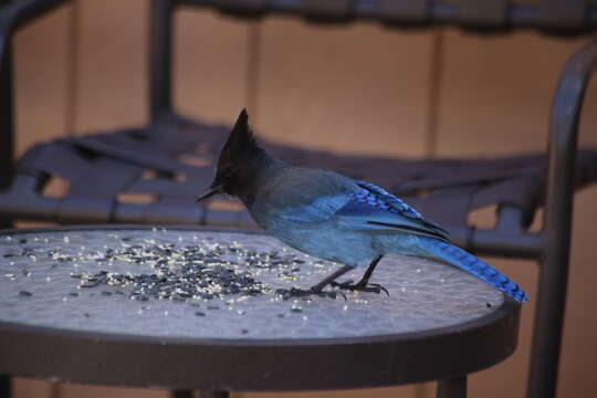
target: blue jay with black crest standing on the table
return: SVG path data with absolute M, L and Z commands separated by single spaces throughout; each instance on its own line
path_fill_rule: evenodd
M 306 254 L 342 266 L 306 292 L 387 292 L 369 279 L 387 254 L 439 260 L 457 266 L 517 302 L 528 295 L 510 277 L 452 244 L 448 230 L 370 182 L 342 174 L 292 166 L 263 149 L 242 109 L 219 155 L 216 177 L 197 201 L 214 195 L 239 198 L 269 234 Z M 357 283 L 336 279 L 365 268 Z

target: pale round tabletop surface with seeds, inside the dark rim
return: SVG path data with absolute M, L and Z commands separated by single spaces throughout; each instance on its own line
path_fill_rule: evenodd
M 388 256 L 376 270 L 374 282 L 389 296 L 342 286 L 308 292 L 337 266 L 252 233 L 0 233 L 0 322 L 148 336 L 328 338 L 442 327 L 503 302 L 474 276 L 410 256 Z

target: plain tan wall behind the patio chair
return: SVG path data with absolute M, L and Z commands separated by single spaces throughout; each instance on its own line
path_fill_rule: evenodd
M 84 0 L 17 36 L 18 149 L 66 134 L 147 119 L 146 0 Z M 208 11 L 177 14 L 175 103 L 182 114 L 230 123 L 249 106 L 263 136 L 338 153 L 399 156 L 503 155 L 542 150 L 558 71 L 584 40 L 535 33 L 479 38 L 458 30 L 394 32 L 375 24 L 317 28 L 261 23 Z M 76 35 L 72 35 L 76 32 Z M 597 146 L 591 85 L 580 143 Z M 576 196 L 559 396 L 597 390 L 597 188 Z M 485 216 L 486 217 L 486 216 Z M 536 266 L 492 260 L 533 297 Z M 521 397 L 534 303 L 521 344 L 503 364 L 471 376 L 472 397 Z M 488 342 L 491 344 L 491 342 Z M 166 397 L 145 391 L 19 379 L 17 397 Z M 237 397 L 430 398 L 432 385 Z

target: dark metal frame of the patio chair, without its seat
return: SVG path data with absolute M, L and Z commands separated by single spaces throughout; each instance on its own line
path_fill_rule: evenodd
M 45 12 L 70 0 L 22 0 L 0 9 L 0 190 L 13 174 L 13 102 L 11 45 L 13 33 Z M 3 0 L 1 3 L 10 1 Z M 171 59 L 174 11 L 179 6 L 216 7 L 222 12 L 258 18 L 268 13 L 298 14 L 322 23 L 377 20 L 392 28 L 459 25 L 486 32 L 536 29 L 548 34 L 573 35 L 597 28 L 597 8 L 583 0 L 543 0 L 538 6 L 507 4 L 504 0 L 431 0 L 394 2 L 379 0 L 151 0 L 149 108 L 153 122 L 172 114 Z M 554 397 L 566 304 L 574 172 L 577 133 L 585 91 L 597 64 L 597 41 L 578 50 L 567 61 L 554 94 L 549 119 L 547 195 L 544 228 L 527 233 L 520 211 L 500 209 L 498 234 L 472 238 L 485 253 L 534 259 L 540 265 L 535 328 L 527 383 L 527 397 Z M 10 226 L 10 220 L 4 220 Z M 504 232 L 507 234 L 504 235 Z M 500 238 L 501 237 L 501 238 Z M 464 397 L 467 377 L 439 381 L 438 397 Z M 0 377 L 0 396 L 9 396 L 10 380 Z M 222 391 L 202 392 L 226 397 Z M 187 397 L 188 391 L 176 391 Z

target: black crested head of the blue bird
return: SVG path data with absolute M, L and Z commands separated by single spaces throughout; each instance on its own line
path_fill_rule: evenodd
M 260 159 L 264 156 L 249 126 L 247 109 L 242 109 L 220 153 L 216 178 L 197 201 L 218 193 L 240 196 L 255 179 Z

